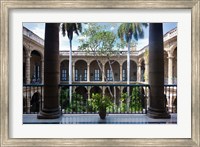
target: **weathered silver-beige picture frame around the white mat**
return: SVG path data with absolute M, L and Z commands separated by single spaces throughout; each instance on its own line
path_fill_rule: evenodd
M 192 137 L 190 139 L 14 139 L 9 138 L 9 12 L 11 9 L 191 9 L 192 11 Z M 200 146 L 199 89 L 200 89 L 200 1 L 1 1 L 1 50 L 0 50 L 0 95 L 1 95 L 1 146 Z

